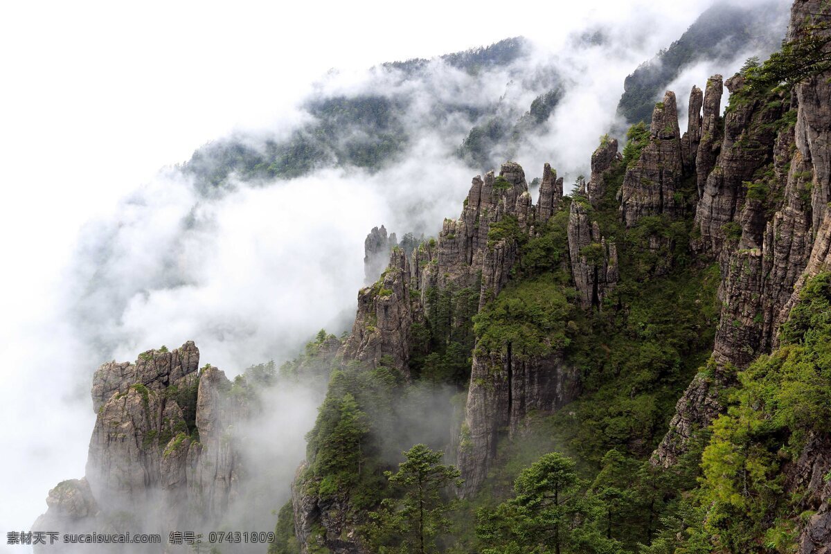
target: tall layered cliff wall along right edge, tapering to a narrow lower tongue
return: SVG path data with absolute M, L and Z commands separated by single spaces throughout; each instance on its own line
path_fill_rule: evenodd
M 820 13 L 819 2 L 794 2 L 789 39 Z M 719 81 L 720 76 L 708 81 L 704 129 L 714 128 L 708 121 L 717 122 Z M 777 346 L 779 326 L 804 282 L 831 262 L 828 75 L 795 86 L 790 97 L 752 94 L 743 90 L 740 76 L 725 84 L 738 101 L 731 98 L 725 115 L 720 152 L 696 210 L 701 236 L 691 245 L 720 262 L 723 307 L 713 348 L 719 379 L 705 386 L 696 377 L 679 400 L 670 431 L 653 455 L 665 466 L 685 450 L 691 430 L 705 428 L 723 409 L 718 395 L 735 379 L 735 368 Z M 795 122 L 788 118 L 793 110 Z M 705 130 L 696 159 L 700 186 L 714 151 L 706 147 L 708 135 Z M 712 144 L 718 150 L 717 139 Z

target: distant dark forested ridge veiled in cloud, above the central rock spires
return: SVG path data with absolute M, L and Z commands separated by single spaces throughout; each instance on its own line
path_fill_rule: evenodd
M 534 125 L 545 120 L 556 99 L 549 89 L 558 82 L 553 68 L 540 67 L 527 74 L 529 42 L 522 37 L 508 38 L 489 47 L 474 48 L 438 56 L 432 60 L 394 61 L 376 66 L 366 92 L 311 96 L 302 105 L 310 120 L 283 140 L 253 140 L 231 137 L 209 143 L 196 150 L 184 164 L 206 193 L 224 184 L 230 174 L 239 179 L 291 179 L 322 167 L 355 167 L 376 171 L 406 152 L 413 135 L 411 125 L 417 110 L 418 125 L 448 127 L 461 118 L 473 129 L 460 148 L 470 160 L 488 163 L 489 148 L 479 144 L 479 129 L 490 126 L 491 142 L 505 138 L 494 125 L 503 120 Z M 509 88 L 531 91 L 538 96 L 531 105 L 522 105 L 517 91 L 504 92 L 486 101 L 465 101 L 464 95 L 451 96 L 445 84 L 437 81 L 435 68 L 460 71 L 479 79 L 499 79 Z M 426 99 L 420 98 L 425 95 Z M 427 102 L 426 113 L 420 110 Z M 527 111 L 527 115 L 523 115 Z M 426 120 L 421 118 L 426 117 Z M 523 121 L 524 121 L 523 120 Z M 480 123 L 480 121 L 484 121 Z M 529 125 L 529 123 L 523 123 Z M 491 136 L 493 135 L 493 136 Z M 473 137 L 473 138 L 471 138 Z

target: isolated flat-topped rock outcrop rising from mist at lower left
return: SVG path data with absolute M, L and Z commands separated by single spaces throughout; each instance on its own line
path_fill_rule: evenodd
M 135 364 L 101 365 L 86 478 L 52 489 L 36 527 L 62 522 L 101 531 L 129 514 L 130 530 L 159 532 L 224 517 L 239 484 L 234 424 L 248 406 L 229 395 L 222 371 L 199 373 L 198 366 L 192 341 L 146 351 Z M 123 520 L 117 531 L 125 531 Z

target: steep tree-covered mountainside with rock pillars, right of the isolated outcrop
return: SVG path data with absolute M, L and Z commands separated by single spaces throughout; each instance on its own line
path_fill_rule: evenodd
M 694 88 L 683 133 L 666 92 L 573 194 L 546 166 L 534 204 L 506 163 L 410 259 L 393 246 L 272 552 L 824 552 L 829 22 L 795 2 L 782 54 Z M 407 423 L 375 395 L 436 381 L 465 415 L 403 454 L 445 476 L 419 519 L 401 470 L 381 477 Z M 349 436 L 357 459 L 327 472 Z

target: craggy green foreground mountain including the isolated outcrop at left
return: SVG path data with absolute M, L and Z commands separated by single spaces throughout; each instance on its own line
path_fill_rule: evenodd
M 273 524 L 285 460 L 252 422 L 303 385 L 276 527 L 214 550 L 828 552 L 831 10 L 795 0 L 786 37 L 693 87 L 686 129 L 666 91 L 602 136 L 569 194 L 507 161 L 435 237 L 373 228 L 351 331 L 280 368 L 232 381 L 194 342 L 101 365 L 86 477 L 36 529 Z

